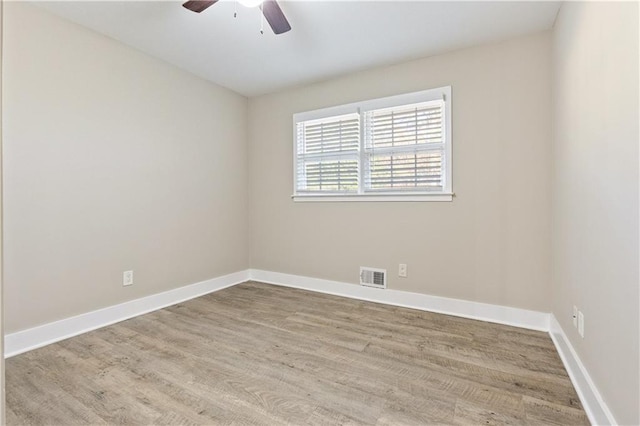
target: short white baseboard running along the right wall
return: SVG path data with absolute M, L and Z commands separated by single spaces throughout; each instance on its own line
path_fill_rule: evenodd
M 593 425 L 617 425 L 616 419 L 602 399 L 580 357 L 569 342 L 555 315 L 551 314 L 549 334 L 580 397 L 584 411 Z

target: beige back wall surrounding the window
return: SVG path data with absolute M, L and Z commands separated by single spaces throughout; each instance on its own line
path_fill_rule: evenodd
M 543 33 L 250 99 L 252 267 L 549 312 L 550 54 Z M 453 202 L 291 200 L 292 114 L 445 85 Z

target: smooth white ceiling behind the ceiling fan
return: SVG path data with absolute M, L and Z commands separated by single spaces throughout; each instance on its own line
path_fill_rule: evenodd
M 560 2 L 283 1 L 292 30 L 220 0 L 38 2 L 51 12 L 245 96 L 550 29 Z M 238 17 L 234 19 L 237 7 Z

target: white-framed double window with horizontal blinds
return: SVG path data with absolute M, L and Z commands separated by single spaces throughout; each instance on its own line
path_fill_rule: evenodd
M 294 115 L 296 201 L 451 201 L 451 87 Z

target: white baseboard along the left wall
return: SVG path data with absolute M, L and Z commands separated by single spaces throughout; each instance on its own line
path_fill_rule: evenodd
M 249 271 L 235 272 L 196 284 L 153 294 L 71 318 L 51 322 L 4 337 L 5 358 L 115 324 L 138 315 L 175 305 L 249 280 Z

